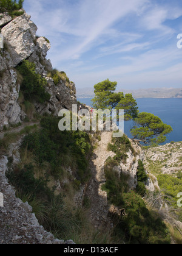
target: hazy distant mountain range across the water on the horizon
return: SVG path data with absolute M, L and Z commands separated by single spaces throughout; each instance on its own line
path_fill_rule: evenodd
M 78 88 L 77 98 L 93 98 L 95 96 L 93 88 Z M 182 98 L 182 88 L 148 88 L 138 90 L 121 89 L 124 94 L 132 93 L 133 98 Z

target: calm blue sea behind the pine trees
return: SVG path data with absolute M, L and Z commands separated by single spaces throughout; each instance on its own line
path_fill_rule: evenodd
M 92 106 L 92 98 L 78 98 L 78 101 Z M 182 98 L 142 98 L 136 99 L 138 110 L 140 112 L 149 112 L 161 118 L 163 123 L 169 124 L 173 132 L 166 137 L 165 143 L 171 141 L 182 141 Z M 124 122 L 124 133 L 132 138 L 130 129 L 133 127 L 133 121 Z

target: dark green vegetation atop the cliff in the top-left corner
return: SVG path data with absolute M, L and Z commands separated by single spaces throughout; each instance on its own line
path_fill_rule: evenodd
M 19 11 L 22 9 L 24 0 L 1 0 L 0 13 L 7 12 L 12 18 L 22 15 L 24 12 Z

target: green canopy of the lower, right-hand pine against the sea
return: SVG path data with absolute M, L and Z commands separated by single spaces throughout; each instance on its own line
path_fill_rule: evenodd
M 166 134 L 172 132 L 172 127 L 164 124 L 158 116 L 151 113 L 139 113 L 134 119 L 135 126 L 130 130 L 134 140 L 145 144 L 159 144 L 166 141 Z

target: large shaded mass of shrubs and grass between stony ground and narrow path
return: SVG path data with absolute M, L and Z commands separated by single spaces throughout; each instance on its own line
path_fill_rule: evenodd
M 92 153 L 90 138 L 84 132 L 61 132 L 58 122 L 58 118 L 44 117 L 41 129 L 24 137 L 21 162 L 9 168 L 7 177 L 17 196 L 32 205 L 45 229 L 60 239 L 86 243 L 100 234 L 88 228 L 86 209 L 75 208 L 72 196 L 90 177 L 87 160 Z M 72 174 L 67 171 L 69 167 Z M 56 188 L 55 180 L 61 183 L 61 191 Z M 84 232 L 90 232 L 90 237 L 84 237 Z M 103 243 L 105 238 L 98 239 Z

